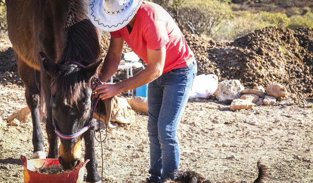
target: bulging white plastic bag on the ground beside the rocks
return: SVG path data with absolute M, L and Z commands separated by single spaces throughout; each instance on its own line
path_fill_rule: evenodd
M 218 88 L 218 77 L 215 74 L 201 74 L 193 80 L 189 99 L 208 98 Z

